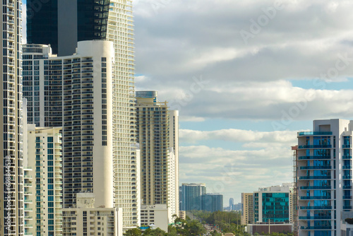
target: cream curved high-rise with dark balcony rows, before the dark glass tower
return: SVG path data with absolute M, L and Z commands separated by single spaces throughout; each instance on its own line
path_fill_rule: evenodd
M 112 87 L 107 84 L 113 77 L 112 42 L 79 42 L 76 54 L 68 57 L 48 54 L 46 47 L 23 47 L 28 121 L 63 126 L 64 207 L 73 207 L 75 194 L 88 191 L 96 194 L 96 207 L 111 208 L 113 118 Z M 51 107 L 60 114 L 54 116 Z

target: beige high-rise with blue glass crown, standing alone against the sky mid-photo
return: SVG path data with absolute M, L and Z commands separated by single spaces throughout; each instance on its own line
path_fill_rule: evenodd
M 142 203 L 166 204 L 171 219 L 179 213 L 178 112 L 159 102 L 157 91 L 138 91 L 136 114 Z

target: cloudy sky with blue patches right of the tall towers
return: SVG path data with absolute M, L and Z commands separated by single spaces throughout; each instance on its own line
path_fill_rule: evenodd
M 136 89 L 180 110 L 180 183 L 292 182 L 313 119 L 353 114 L 352 1 L 139 0 Z

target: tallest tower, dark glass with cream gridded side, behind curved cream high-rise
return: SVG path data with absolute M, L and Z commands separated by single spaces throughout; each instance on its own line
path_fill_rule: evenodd
M 59 56 L 70 56 L 78 41 L 113 42 L 114 76 L 107 87 L 112 88 L 114 206 L 123 208 L 125 227 L 138 225 L 139 212 L 137 177 L 132 176 L 136 169 L 132 11 L 131 0 L 27 1 L 28 42 L 32 44 L 52 45 L 54 53 L 57 48 Z M 56 112 L 55 117 L 60 111 Z

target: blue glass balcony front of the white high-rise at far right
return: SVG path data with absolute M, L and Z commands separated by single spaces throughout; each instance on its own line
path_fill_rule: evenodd
M 336 232 L 336 138 L 320 134 L 298 135 L 299 235 Z

